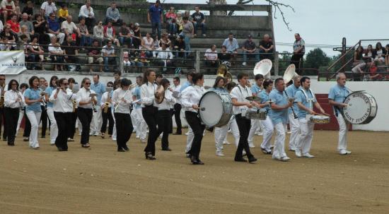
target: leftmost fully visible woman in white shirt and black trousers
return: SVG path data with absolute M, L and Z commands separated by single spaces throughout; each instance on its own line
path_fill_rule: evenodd
M 11 80 L 8 83 L 8 90 L 4 93 L 4 113 L 8 126 L 8 145 L 15 145 L 16 128 L 18 126 L 19 112 L 25 105 L 23 95 L 18 91 L 19 83 Z

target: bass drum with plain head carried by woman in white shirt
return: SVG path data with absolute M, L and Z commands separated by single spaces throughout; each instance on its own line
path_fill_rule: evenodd
M 228 93 L 209 91 L 202 95 L 199 102 L 199 117 L 206 126 L 221 127 L 228 124 L 233 107 Z

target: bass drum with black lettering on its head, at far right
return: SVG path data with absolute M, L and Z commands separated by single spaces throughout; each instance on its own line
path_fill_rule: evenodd
M 357 91 L 349 94 L 344 103 L 342 115 L 350 124 L 368 124 L 377 114 L 376 99 L 368 93 Z

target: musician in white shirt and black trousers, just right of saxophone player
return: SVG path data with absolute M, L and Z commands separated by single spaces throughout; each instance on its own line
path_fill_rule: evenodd
M 120 81 L 121 88 L 117 88 L 112 94 L 112 104 L 114 105 L 114 115 L 117 133 L 117 151 L 124 152 L 129 150 L 127 141 L 131 137 L 134 127 L 132 126 L 129 109 L 132 104 L 132 95 L 129 92 L 131 81 L 122 78 Z

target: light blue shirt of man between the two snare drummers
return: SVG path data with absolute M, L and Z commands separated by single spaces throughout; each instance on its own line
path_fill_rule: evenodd
M 283 106 L 288 104 L 288 98 L 286 97 L 284 92 L 279 92 L 279 90 L 272 90 L 271 93 L 269 93 L 269 99 L 274 102 L 275 105 Z M 274 125 L 283 123 L 286 124 L 288 122 L 288 110 L 282 109 L 282 110 L 270 110 L 270 119 L 272 119 L 272 122 Z

